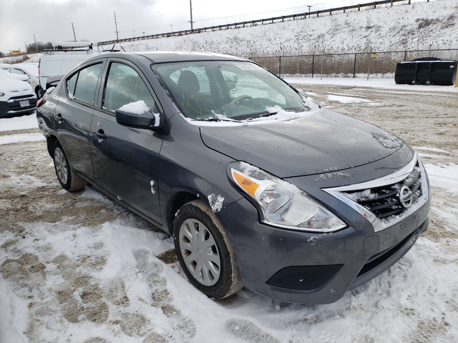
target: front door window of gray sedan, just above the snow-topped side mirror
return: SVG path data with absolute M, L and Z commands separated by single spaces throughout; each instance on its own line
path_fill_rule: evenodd
M 79 82 L 79 80 L 78 80 Z M 103 108 L 114 112 L 129 102 L 143 100 L 154 110 L 154 99 L 138 73 L 125 64 L 110 64 Z

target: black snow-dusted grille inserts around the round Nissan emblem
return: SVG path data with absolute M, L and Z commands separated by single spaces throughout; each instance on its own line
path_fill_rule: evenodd
M 414 204 L 421 195 L 421 172 L 418 162 L 414 170 L 400 182 L 382 187 L 342 192 L 342 195 L 364 206 L 377 218 L 382 219 L 401 214 L 406 209 L 399 200 L 399 191 L 403 186 L 407 186 L 412 192 L 412 204 Z

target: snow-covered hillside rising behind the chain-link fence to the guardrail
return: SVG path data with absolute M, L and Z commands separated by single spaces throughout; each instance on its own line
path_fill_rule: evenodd
M 399 3 L 403 4 L 403 3 Z M 299 35 L 299 37 L 298 37 Z M 193 50 L 273 56 L 458 48 L 458 0 L 417 2 L 305 20 L 123 42 L 126 50 Z M 111 47 L 111 46 L 110 46 Z

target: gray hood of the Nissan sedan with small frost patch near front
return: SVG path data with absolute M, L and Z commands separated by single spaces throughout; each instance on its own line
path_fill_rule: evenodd
M 394 134 L 324 108 L 288 121 L 200 130 L 209 148 L 280 178 L 361 166 L 403 146 Z

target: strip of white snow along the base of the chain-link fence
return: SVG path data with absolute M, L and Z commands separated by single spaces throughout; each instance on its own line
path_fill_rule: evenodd
M 424 85 L 397 85 L 394 79 L 347 79 L 347 78 L 323 78 L 318 77 L 284 77 L 288 83 L 300 85 L 340 85 L 359 86 L 385 89 L 399 89 L 403 91 L 442 91 L 458 93 L 458 87 L 454 86 L 424 86 Z

